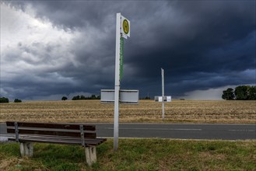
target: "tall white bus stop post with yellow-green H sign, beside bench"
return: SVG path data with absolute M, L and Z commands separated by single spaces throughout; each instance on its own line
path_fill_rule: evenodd
M 123 76 L 123 46 L 124 38 L 130 37 L 130 21 L 121 13 L 117 13 L 116 24 L 116 54 L 115 54 L 115 81 L 114 81 L 114 150 L 118 148 L 119 135 L 119 90 Z

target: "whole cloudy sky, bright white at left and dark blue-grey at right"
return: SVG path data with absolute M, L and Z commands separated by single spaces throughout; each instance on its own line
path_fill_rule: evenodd
M 1 1 L 0 96 L 59 100 L 114 89 L 116 13 L 131 21 L 121 89 L 220 99 L 255 85 L 255 1 Z

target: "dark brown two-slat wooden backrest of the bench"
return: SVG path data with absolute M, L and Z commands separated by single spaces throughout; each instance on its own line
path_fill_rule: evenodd
M 87 124 L 48 124 L 7 121 L 7 133 L 64 136 L 74 138 L 96 138 L 96 126 Z

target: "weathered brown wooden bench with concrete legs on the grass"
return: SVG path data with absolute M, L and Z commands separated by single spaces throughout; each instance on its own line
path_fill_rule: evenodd
M 22 156 L 33 155 L 33 142 L 64 145 L 82 145 L 89 166 L 96 162 L 96 145 L 106 138 L 96 138 L 96 126 L 87 124 L 47 124 L 7 121 L 9 141 L 19 142 Z

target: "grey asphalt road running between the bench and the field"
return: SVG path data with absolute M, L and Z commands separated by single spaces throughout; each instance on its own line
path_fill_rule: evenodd
M 96 124 L 97 136 L 113 138 L 113 124 Z M 5 123 L 0 134 L 6 134 Z M 256 124 L 120 124 L 120 138 L 256 140 Z

